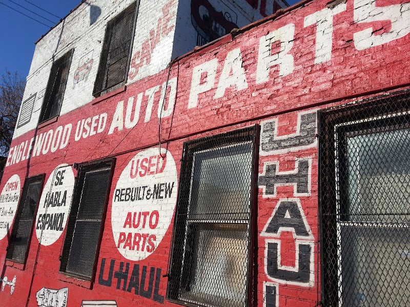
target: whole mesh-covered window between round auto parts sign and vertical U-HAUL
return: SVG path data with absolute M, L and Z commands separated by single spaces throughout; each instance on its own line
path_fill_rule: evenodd
M 248 305 L 256 127 L 186 142 L 168 299 Z

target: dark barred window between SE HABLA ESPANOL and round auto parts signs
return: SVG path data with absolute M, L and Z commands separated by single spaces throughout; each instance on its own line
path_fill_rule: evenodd
M 106 159 L 78 167 L 61 272 L 86 280 L 94 277 L 113 163 L 113 159 Z

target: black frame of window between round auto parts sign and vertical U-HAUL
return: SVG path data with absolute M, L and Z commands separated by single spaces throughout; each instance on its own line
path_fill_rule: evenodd
M 172 238 L 172 246 L 171 246 L 171 257 L 169 263 L 169 278 L 168 278 L 168 287 L 167 287 L 167 299 L 171 302 L 181 304 L 181 305 L 188 305 L 188 306 L 215 306 L 216 304 L 200 302 L 200 301 L 192 301 L 189 299 L 184 299 L 180 297 L 180 290 L 182 287 L 182 283 L 187 284 L 191 277 L 185 276 L 182 277 L 182 272 L 186 269 L 184 268 L 185 264 L 183 263 L 183 258 L 189 257 L 194 254 L 189 252 L 189 248 L 185 248 L 185 244 L 189 237 L 192 234 L 187 233 L 187 227 L 189 223 L 194 223 L 188 221 L 190 218 L 188 217 L 189 210 L 188 206 L 191 198 L 192 192 L 192 182 L 191 178 L 194 172 L 194 155 L 195 153 L 200 153 L 203 151 L 211 151 L 211 150 L 219 150 L 224 149 L 226 147 L 235 147 L 240 146 L 246 142 L 251 143 L 251 161 L 250 161 L 250 186 L 249 186 L 249 212 L 248 217 L 244 221 L 235 222 L 234 218 L 230 221 L 229 219 L 224 217 L 222 220 L 227 220 L 226 222 L 207 222 L 209 224 L 214 223 L 216 227 L 213 230 L 218 230 L 218 227 L 222 225 L 230 225 L 231 233 L 235 232 L 233 228 L 235 227 L 242 227 L 242 223 L 246 223 L 245 226 L 247 227 L 247 239 L 248 239 L 248 247 L 247 247 L 247 266 L 245 268 L 246 274 L 246 284 L 244 289 L 245 293 L 245 301 L 243 302 L 243 306 L 253 305 L 256 299 L 256 282 L 254 279 L 257 276 L 257 265 L 255 264 L 255 259 L 257 258 L 257 231 L 256 229 L 256 210 L 257 210 L 257 170 L 258 167 L 255 165 L 255 161 L 258 161 L 258 150 L 259 150 L 259 133 L 260 127 L 259 125 L 254 125 L 247 128 L 242 128 L 234 131 L 230 131 L 228 133 L 223 133 L 215 136 L 205 137 L 193 141 L 188 141 L 184 143 L 183 146 L 183 153 L 182 153 L 182 163 L 180 169 L 180 177 L 179 177 L 179 188 L 178 188 L 178 201 L 176 206 L 176 213 L 175 213 L 175 221 L 174 221 L 174 229 L 173 229 L 173 238 Z M 218 145 L 215 145 L 215 142 Z M 234 149 L 236 150 L 236 149 Z M 212 155 L 212 154 L 211 154 Z M 234 154 L 232 154 L 234 155 Z M 190 184 L 191 182 L 191 184 Z M 195 196 L 196 197 L 196 196 Z M 211 213 L 210 215 L 212 215 Z M 215 214 L 215 213 L 214 213 Z M 225 213 L 224 213 L 225 214 Z M 237 214 L 240 215 L 242 213 Z M 221 214 L 223 215 L 223 214 Z M 205 225 L 205 222 L 198 222 L 199 225 Z M 219 225 L 218 225 L 219 224 Z M 209 225 L 205 226 L 208 227 Z M 212 227 L 212 226 L 211 226 Z M 227 229 L 223 231 L 227 232 Z M 229 231 L 229 230 L 228 230 Z M 177 237 L 178 233 L 183 233 L 183 237 Z M 229 236 L 229 235 L 228 235 Z M 194 239 L 192 239 L 194 243 Z M 188 266 L 191 266 L 189 264 Z M 192 269 L 188 269 L 192 270 Z M 184 279 L 185 278 L 185 279 Z M 186 289 L 186 288 L 185 288 Z

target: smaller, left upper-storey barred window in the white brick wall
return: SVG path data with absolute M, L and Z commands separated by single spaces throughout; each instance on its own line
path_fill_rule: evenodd
M 44 122 L 60 114 L 63 103 L 64 92 L 70 70 L 73 49 L 67 52 L 53 63 L 50 77 L 48 79 L 46 93 L 44 95 L 42 112 L 38 122 Z

